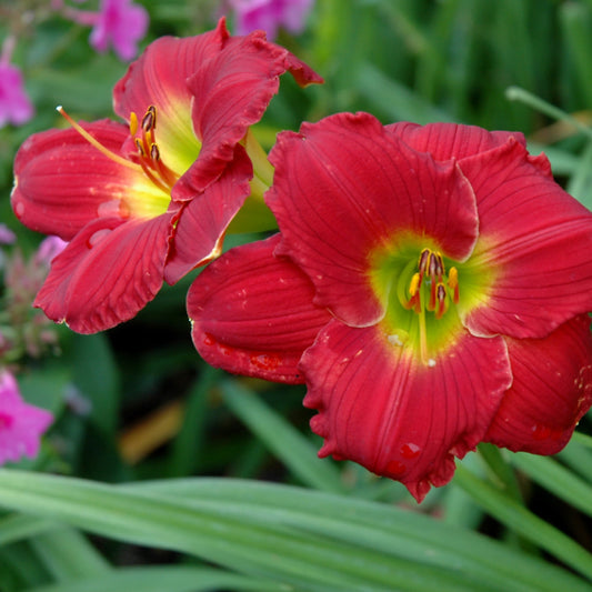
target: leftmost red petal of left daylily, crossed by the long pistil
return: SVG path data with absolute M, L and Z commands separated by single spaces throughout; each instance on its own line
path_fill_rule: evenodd
M 82 126 L 116 153 L 129 136 L 126 126 L 109 120 Z M 17 153 L 14 177 L 17 218 L 32 230 L 69 241 L 101 214 L 103 203 L 124 198 L 141 172 L 118 164 L 68 129 L 31 136 Z M 109 213 L 113 215 L 113 208 Z

